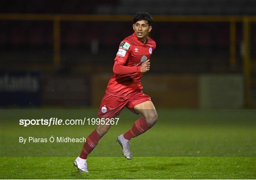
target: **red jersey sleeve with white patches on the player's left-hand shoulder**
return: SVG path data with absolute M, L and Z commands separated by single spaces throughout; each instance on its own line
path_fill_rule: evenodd
M 131 53 L 131 43 L 127 41 L 122 41 L 119 45 L 119 49 L 114 60 L 122 63 L 126 63 L 130 53 Z

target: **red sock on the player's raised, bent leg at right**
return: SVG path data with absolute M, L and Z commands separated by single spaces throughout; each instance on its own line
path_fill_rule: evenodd
M 132 137 L 137 137 L 138 135 L 146 132 L 146 130 L 151 127 L 146 123 L 146 119 L 144 117 L 135 121 L 132 125 L 132 128 L 129 129 L 126 133 L 124 133 L 124 138 L 130 140 Z

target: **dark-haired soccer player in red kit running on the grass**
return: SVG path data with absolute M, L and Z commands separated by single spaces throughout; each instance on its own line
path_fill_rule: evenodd
M 130 139 L 150 129 L 158 116 L 151 98 L 142 92 L 141 77 L 150 69 L 150 56 L 156 44 L 148 37 L 152 30 L 152 17 L 146 12 L 138 12 L 133 19 L 134 33 L 125 38 L 119 45 L 113 76 L 110 78 L 104 97 L 101 100 L 98 116 L 101 118 L 114 118 L 126 106 L 132 112 L 142 117 L 134 122 L 131 129 L 117 137 L 122 147 L 123 155 L 132 159 L 130 152 Z M 88 154 L 97 146 L 111 125 L 100 124 L 86 138 L 81 154 L 74 161 L 80 172 L 88 172 L 86 159 Z

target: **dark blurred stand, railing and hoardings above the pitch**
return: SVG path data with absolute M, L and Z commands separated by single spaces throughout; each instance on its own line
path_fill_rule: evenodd
M 256 0 L 1 0 L 0 106 L 98 107 L 137 11 L 156 107 L 256 107 Z

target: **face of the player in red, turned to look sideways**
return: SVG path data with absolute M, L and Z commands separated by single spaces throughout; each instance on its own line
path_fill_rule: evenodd
M 142 41 L 142 43 L 146 43 L 146 38 L 151 31 L 152 26 L 148 26 L 148 23 L 145 20 L 137 21 L 132 26 L 137 38 Z

